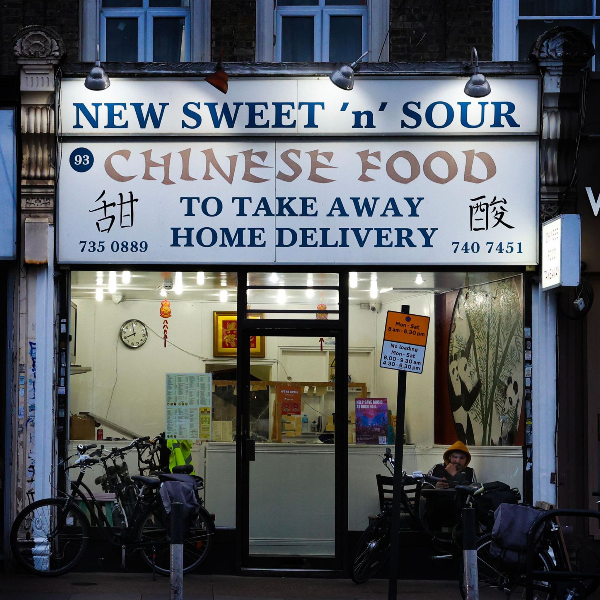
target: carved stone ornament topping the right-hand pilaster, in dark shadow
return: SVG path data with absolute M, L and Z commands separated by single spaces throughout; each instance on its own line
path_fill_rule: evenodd
M 554 27 L 533 44 L 530 58 L 536 61 L 581 62 L 586 64 L 595 54 L 589 36 L 574 27 Z

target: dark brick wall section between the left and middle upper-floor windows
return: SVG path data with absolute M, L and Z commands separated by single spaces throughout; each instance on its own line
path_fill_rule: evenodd
M 211 2 L 211 53 L 218 61 L 251 62 L 256 39 L 256 0 Z

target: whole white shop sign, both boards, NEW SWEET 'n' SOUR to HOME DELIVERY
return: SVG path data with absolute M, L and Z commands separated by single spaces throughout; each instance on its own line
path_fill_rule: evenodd
M 175 104 L 171 95 L 163 103 L 162 118 L 156 107 L 146 107 L 145 117 L 124 116 L 121 128 L 109 127 L 112 134 L 133 133 L 136 139 L 105 140 L 100 134 L 107 133 L 106 123 L 116 123 L 116 113 L 106 112 L 107 100 L 121 93 L 121 82 L 116 82 L 110 97 L 104 92 L 92 96 L 94 106 L 86 104 L 86 91 L 76 94 L 74 82 L 65 82 L 69 85 L 62 104 L 59 262 L 536 264 L 538 143 L 527 134 L 534 134 L 537 127 L 530 121 L 536 113 L 532 109 L 537 106 L 537 82 L 513 82 L 516 91 L 511 91 L 508 80 L 498 80 L 496 94 L 505 100 L 476 103 L 481 113 L 475 127 L 470 117 L 460 118 L 461 103 L 473 103 L 464 94 L 455 95 L 457 81 L 442 80 L 429 87 L 427 80 L 374 81 L 370 82 L 373 89 L 365 89 L 362 97 L 340 98 L 338 91 L 330 89 L 333 86 L 323 87 L 327 82 L 322 80 L 281 80 L 281 88 L 269 81 L 239 82 L 247 85 L 244 106 L 259 92 L 272 92 L 275 112 L 270 116 L 265 112 L 269 123 L 278 119 L 277 98 L 295 91 L 296 100 L 289 103 L 296 107 L 289 117 L 293 127 L 270 131 L 280 134 L 275 140 L 266 137 L 266 127 L 239 130 L 237 121 L 232 121 L 226 130 L 197 130 L 194 135 L 236 134 L 238 139 L 202 141 L 181 137 L 187 131 L 176 130 L 173 120 L 163 121 Z M 139 102 L 131 103 L 133 115 L 142 111 L 138 105 L 150 94 L 148 89 L 154 90 L 149 97 L 155 97 L 155 102 L 163 94 L 173 94 L 170 86 L 183 94 L 191 93 L 184 84 L 194 84 L 190 89 L 197 90 L 198 98 L 212 93 L 200 88 L 199 82 L 181 81 L 163 85 L 165 91 L 159 93 L 155 83 L 139 83 Z M 127 88 L 131 82 L 122 85 L 133 89 Z M 398 113 L 392 121 L 383 119 L 383 129 L 376 130 L 380 127 L 376 113 L 388 110 L 388 104 L 390 110 L 400 106 L 398 101 L 382 100 L 394 100 L 394 91 L 422 97 L 413 103 L 424 107 L 424 115 L 420 121 L 413 116 L 411 123 L 419 125 L 410 128 L 407 115 Z M 437 95 L 445 100 L 434 101 Z M 342 116 L 329 115 L 321 125 L 313 115 L 314 128 L 299 128 L 299 105 L 305 104 L 299 100 L 308 97 L 315 106 L 319 98 L 327 97 L 323 115 L 339 104 Z M 180 103 L 181 98 L 185 95 L 180 95 Z M 352 106 L 343 108 L 341 98 Z M 215 103 L 204 102 L 198 104 L 217 110 Z M 227 98 L 231 104 L 227 109 L 223 102 L 217 119 L 222 127 L 228 122 L 223 115 L 242 110 L 235 97 Z M 344 121 L 347 110 L 351 114 L 360 102 L 361 113 L 369 115 Z M 495 104 L 485 104 L 492 102 L 503 104 L 503 116 L 494 116 Z M 427 108 L 435 103 L 433 109 Z M 128 105 L 121 108 L 129 110 Z M 440 118 L 440 109 L 446 118 Z M 487 109 L 490 112 L 485 113 Z M 368 128 L 371 117 L 373 128 Z M 202 122 L 206 120 L 212 122 L 212 117 Z M 146 129 L 155 122 L 154 136 L 167 135 L 143 138 L 147 133 L 139 130 L 143 122 Z M 361 127 L 354 128 L 356 124 Z M 435 133 L 453 136 L 419 139 L 419 134 L 432 132 L 431 124 Z M 388 135 L 363 139 L 356 136 L 359 133 Z M 480 134 L 485 133 L 505 137 L 484 139 Z M 71 137 L 74 134 L 86 137 L 76 139 Z M 168 137 L 173 134 L 178 137 Z M 262 137 L 239 139 L 241 134 Z M 298 134 L 302 138 L 294 139 Z M 352 137 L 331 139 L 323 134 Z M 397 137 L 391 139 L 394 134 Z M 314 137 L 307 139 L 307 135 Z

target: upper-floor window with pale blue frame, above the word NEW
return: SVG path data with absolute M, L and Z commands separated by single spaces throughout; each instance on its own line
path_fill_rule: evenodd
M 189 61 L 190 17 L 190 0 L 101 0 L 100 58 Z

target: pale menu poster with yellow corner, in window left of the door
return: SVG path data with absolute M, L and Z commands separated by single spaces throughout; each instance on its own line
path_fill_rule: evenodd
M 212 374 L 166 374 L 167 439 L 211 439 Z

